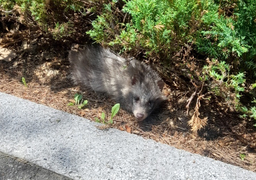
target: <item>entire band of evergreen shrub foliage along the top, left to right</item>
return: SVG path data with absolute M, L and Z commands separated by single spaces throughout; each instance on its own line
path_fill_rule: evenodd
M 189 72 L 197 86 L 207 83 L 204 90 L 224 98 L 242 118 L 256 119 L 256 0 L 0 0 L 0 4 L 1 10 L 17 11 L 24 24 L 31 16 L 55 39 L 71 39 L 74 34 L 77 40 L 76 34 L 86 33 L 120 52 L 161 57 L 166 71 L 175 67 Z M 82 25 L 88 13 L 93 21 L 85 32 Z M 188 45 L 186 58 L 174 58 Z M 197 67 L 189 68 L 191 63 Z M 245 94 L 251 98 L 247 103 Z

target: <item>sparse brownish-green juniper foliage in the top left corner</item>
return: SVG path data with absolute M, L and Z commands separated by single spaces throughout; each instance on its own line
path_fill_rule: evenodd
M 87 12 L 98 11 L 98 2 L 104 0 L 89 1 L 86 6 L 79 0 L 0 0 L 0 8 L 18 15 L 25 25 L 29 25 L 31 16 L 41 30 L 61 39 L 76 33 L 74 21 L 77 17 L 72 14 L 83 17 Z

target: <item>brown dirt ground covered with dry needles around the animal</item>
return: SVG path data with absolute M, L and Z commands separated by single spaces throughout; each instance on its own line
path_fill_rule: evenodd
M 0 60 L 1 92 L 90 120 L 100 118 L 102 112 L 106 114 L 106 119 L 110 118 L 111 108 L 115 104 L 112 99 L 84 91 L 70 81 L 67 55 L 71 43 L 45 38 L 40 32 L 32 33 L 29 30 L 5 32 L 1 38 L 0 48 L 16 53 L 11 61 Z M 22 83 L 22 77 L 27 87 Z M 68 106 L 74 102 L 76 93 L 88 100 L 82 109 Z M 209 103 L 201 103 L 202 117 L 209 117 L 207 125 L 192 133 L 187 125 L 191 114 L 186 116 L 185 108 L 190 96 L 184 96 L 186 92 L 180 92 L 171 85 L 164 87 L 164 93 L 168 101 L 153 116 L 153 122 L 139 123 L 133 115 L 120 109 L 113 125 L 103 125 L 101 128 L 131 129 L 131 133 L 138 136 L 256 172 L 256 131 L 253 122 L 222 111 L 221 107 L 226 104 L 213 97 Z

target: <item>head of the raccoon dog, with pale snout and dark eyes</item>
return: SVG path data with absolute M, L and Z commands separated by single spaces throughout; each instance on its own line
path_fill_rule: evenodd
M 134 74 L 131 79 L 132 111 L 138 121 L 143 121 L 167 98 L 163 95 L 164 82 Z

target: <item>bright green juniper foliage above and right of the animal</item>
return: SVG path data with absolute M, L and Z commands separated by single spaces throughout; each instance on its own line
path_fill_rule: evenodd
M 174 52 L 191 43 L 199 54 L 212 59 L 210 63 L 202 63 L 201 71 L 190 71 L 191 78 L 208 81 L 209 90 L 215 95 L 245 113 L 244 117 L 248 114 L 256 118 L 255 108 L 246 109 L 240 102 L 244 83 L 250 83 L 250 77 L 256 79 L 255 0 L 127 0 L 125 3 L 122 11 L 131 15 L 130 22 L 117 21 L 113 13 L 116 4 L 109 3 L 87 34 L 97 43 L 119 46 L 122 51 L 141 49 L 146 55 L 159 55 L 170 63 L 176 63 L 171 58 Z

